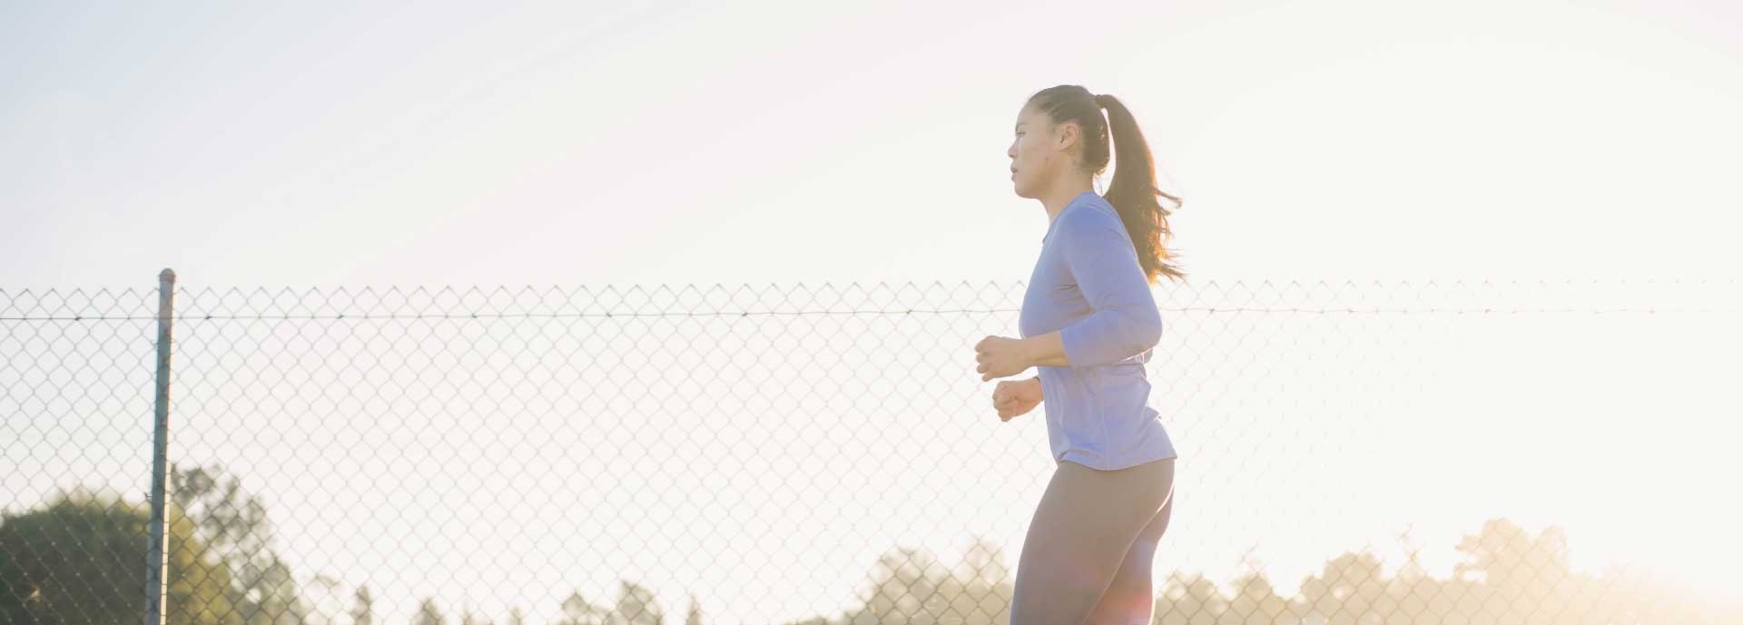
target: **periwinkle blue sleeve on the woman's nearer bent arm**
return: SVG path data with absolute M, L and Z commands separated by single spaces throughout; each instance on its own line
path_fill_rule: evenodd
M 1065 265 L 1093 310 L 1060 329 L 1072 367 L 1114 364 L 1156 346 L 1163 313 L 1117 216 L 1074 211 L 1060 226 Z

